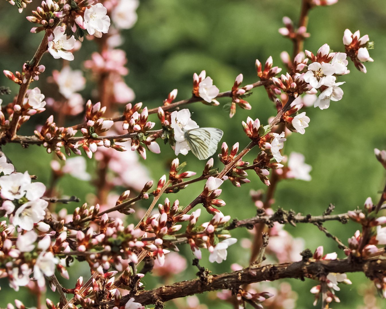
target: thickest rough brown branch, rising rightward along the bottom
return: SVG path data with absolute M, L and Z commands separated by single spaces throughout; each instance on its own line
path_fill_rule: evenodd
M 179 297 L 200 294 L 206 291 L 229 289 L 234 286 L 262 282 L 265 280 L 274 281 L 283 278 L 304 280 L 305 277 L 319 277 L 321 275 L 327 275 L 329 272 L 364 272 L 367 277 L 371 278 L 376 272 L 380 270 L 384 271 L 385 269 L 385 260 L 342 259 L 287 262 L 259 267 L 252 265 L 235 272 L 210 275 L 207 284 L 202 282 L 201 278 L 176 282 L 171 285 L 164 285 L 157 289 L 141 291 L 134 296 L 134 298 L 135 302 L 139 302 L 145 306 L 154 304 L 156 300 L 166 302 Z M 129 296 L 122 297 L 120 305 L 124 306 L 129 298 Z M 95 304 L 94 306 L 106 306 L 105 308 L 110 308 L 115 305 L 113 301 L 110 301 L 107 303 L 103 302 Z

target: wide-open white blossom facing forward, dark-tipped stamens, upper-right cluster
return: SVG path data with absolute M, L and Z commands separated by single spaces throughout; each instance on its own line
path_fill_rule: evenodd
M 308 65 L 308 71 L 304 74 L 304 80 L 312 87 L 318 89 L 320 86 L 330 87 L 334 84 L 336 77 L 334 65 L 330 63 L 313 62 Z

